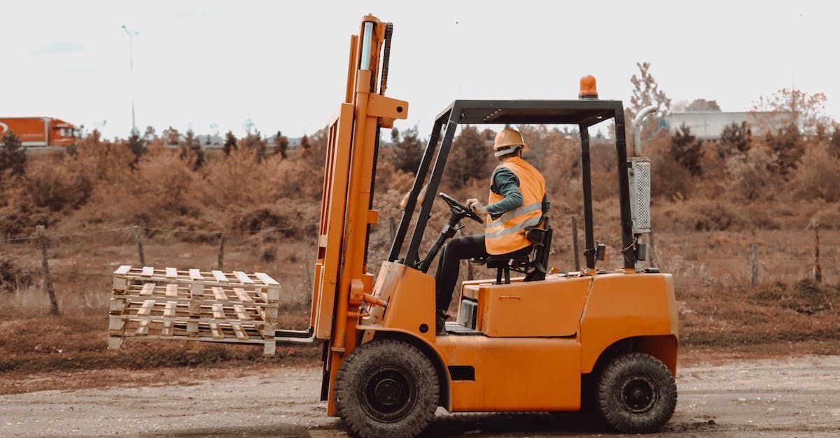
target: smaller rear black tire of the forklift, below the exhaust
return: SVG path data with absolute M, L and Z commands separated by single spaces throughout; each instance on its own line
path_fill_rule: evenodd
M 677 385 L 664 363 L 632 352 L 610 362 L 596 385 L 601 418 L 623 433 L 649 433 L 670 420 L 677 405 Z

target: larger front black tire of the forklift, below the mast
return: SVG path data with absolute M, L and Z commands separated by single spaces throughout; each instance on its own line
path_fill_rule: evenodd
M 438 374 L 416 347 L 374 341 L 350 353 L 335 378 L 335 401 L 355 435 L 412 437 L 438 409 Z

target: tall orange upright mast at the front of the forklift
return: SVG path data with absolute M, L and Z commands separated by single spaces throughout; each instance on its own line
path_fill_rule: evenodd
M 362 18 L 359 34 L 350 37 L 344 102 L 328 125 L 310 321 L 314 336 L 328 341 L 327 372 L 356 346 L 359 306 L 376 302 L 367 245 L 378 219 L 372 206 L 379 132 L 408 115 L 408 102 L 384 96 L 391 30 L 372 15 Z

